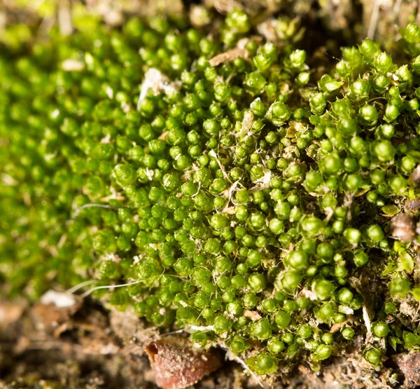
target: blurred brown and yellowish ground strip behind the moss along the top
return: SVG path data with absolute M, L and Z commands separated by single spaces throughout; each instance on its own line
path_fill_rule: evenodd
M 418 0 L 1 0 L 0 41 L 11 44 L 8 28 L 38 29 L 40 34 L 57 23 L 64 34 L 72 29 L 89 29 L 83 15 L 96 15 L 97 21 L 119 26 L 130 15 L 161 13 L 187 14 L 196 27 L 217 32 L 218 16 L 233 8 L 245 10 L 254 25 L 279 15 L 296 19 L 316 36 L 334 37 L 343 44 L 369 36 L 390 46 L 398 39 L 398 29 L 419 21 Z M 25 26 L 25 27 L 22 27 Z M 28 34 L 27 34 L 28 35 Z M 391 38 L 391 39 L 390 39 Z M 313 42 L 311 42 L 311 47 Z

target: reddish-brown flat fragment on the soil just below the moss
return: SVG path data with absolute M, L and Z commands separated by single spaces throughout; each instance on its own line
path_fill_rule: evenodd
M 193 350 L 188 339 L 165 336 L 146 347 L 155 373 L 155 381 L 162 389 L 181 389 L 193 385 L 222 365 L 220 350 Z

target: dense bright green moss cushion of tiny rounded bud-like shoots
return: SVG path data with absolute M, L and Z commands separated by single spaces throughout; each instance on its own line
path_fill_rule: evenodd
M 366 39 L 321 77 L 294 21 L 267 42 L 240 11 L 214 39 L 21 27 L 0 59 L 8 294 L 129 284 L 93 295 L 261 375 L 420 347 L 419 27 L 401 63 Z

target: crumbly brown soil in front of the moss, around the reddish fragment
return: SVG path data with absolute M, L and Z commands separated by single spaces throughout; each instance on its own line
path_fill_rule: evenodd
M 155 389 L 145 349 L 165 336 L 129 311 L 106 310 L 92 301 L 75 299 L 71 306 L 60 308 L 51 302 L 0 303 L 0 388 Z M 355 350 L 356 344 L 348 355 L 323 367 L 322 374 L 301 364 L 265 386 L 389 388 L 391 369 L 372 371 Z M 414 371 L 417 380 L 416 365 L 407 358 L 404 363 L 402 371 Z M 224 360 L 221 369 L 190 388 L 257 389 L 260 383 L 241 364 Z

